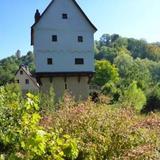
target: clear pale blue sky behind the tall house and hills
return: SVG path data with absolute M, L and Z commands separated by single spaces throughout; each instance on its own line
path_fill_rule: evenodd
M 40 12 L 51 0 L 0 1 L 0 59 L 33 50 L 30 27 L 36 9 Z M 77 0 L 98 28 L 95 39 L 104 33 L 160 41 L 160 0 Z

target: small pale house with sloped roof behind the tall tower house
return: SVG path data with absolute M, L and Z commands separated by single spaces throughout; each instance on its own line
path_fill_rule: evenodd
M 38 92 L 39 84 L 36 79 L 32 76 L 29 68 L 25 65 L 21 65 L 19 70 L 16 72 L 15 81 L 20 85 L 22 92 Z

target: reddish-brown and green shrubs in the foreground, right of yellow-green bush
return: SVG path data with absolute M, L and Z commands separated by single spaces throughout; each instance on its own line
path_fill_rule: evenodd
M 160 132 L 156 126 L 160 119 L 156 115 L 141 117 L 130 108 L 90 101 L 71 102 L 60 108 L 51 114 L 49 125 L 79 139 L 78 160 L 157 160 L 160 156 Z

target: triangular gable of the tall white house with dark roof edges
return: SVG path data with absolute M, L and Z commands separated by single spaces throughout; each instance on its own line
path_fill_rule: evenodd
M 67 20 L 62 19 L 63 13 L 67 13 Z M 35 28 L 43 30 L 67 30 L 72 28 L 73 30 L 87 30 L 92 33 L 97 31 L 97 28 L 91 23 L 75 0 L 51 1 L 39 20 L 31 27 L 31 45 L 34 44 Z

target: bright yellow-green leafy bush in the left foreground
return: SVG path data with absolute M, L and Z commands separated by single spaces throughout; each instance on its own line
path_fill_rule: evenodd
M 14 85 L 0 88 L 0 154 L 9 160 L 75 159 L 77 143 L 61 129 L 45 129 L 40 122 L 39 97 L 21 97 Z

